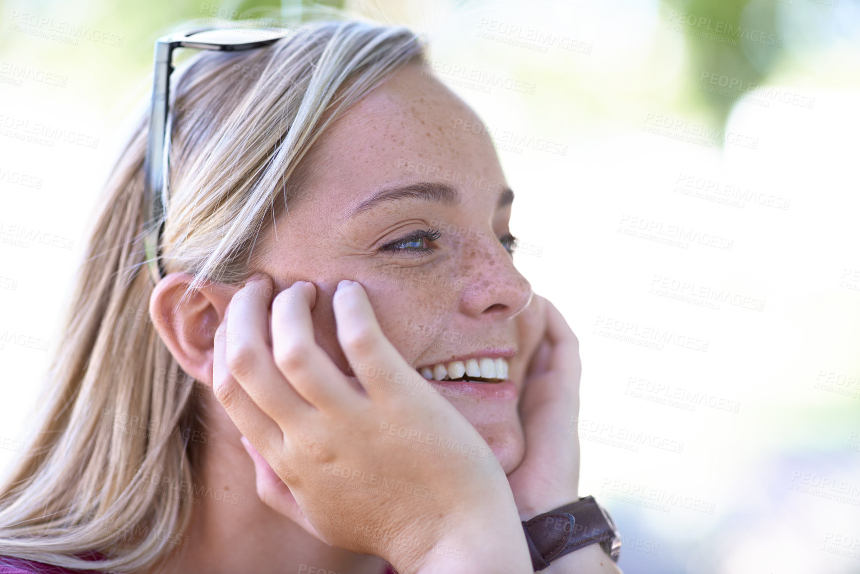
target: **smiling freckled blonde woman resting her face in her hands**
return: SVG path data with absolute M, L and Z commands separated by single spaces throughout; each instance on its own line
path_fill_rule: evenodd
M 328 22 L 195 57 L 155 287 L 140 122 L 0 498 L 7 571 L 532 571 L 519 521 L 578 498 L 578 347 L 421 56 Z M 574 570 L 617 568 L 592 544 L 546 571 Z

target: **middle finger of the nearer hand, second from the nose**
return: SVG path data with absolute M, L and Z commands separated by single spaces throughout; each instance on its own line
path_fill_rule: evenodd
M 272 302 L 272 349 L 275 364 L 290 385 L 317 409 L 348 409 L 359 393 L 329 355 L 316 344 L 310 312 L 316 287 L 296 281 Z

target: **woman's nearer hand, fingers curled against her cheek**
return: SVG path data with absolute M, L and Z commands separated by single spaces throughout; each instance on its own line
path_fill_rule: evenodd
M 213 367 L 218 400 L 283 483 L 258 473 L 261 498 L 329 544 L 380 556 L 402 574 L 464 566 L 431 552 L 440 544 L 468 550 L 472 570 L 479 563 L 529 571 L 497 460 L 432 456 L 376 441 L 396 425 L 486 447 L 384 337 L 364 288 L 341 281 L 333 300 L 338 341 L 356 378 L 316 344 L 313 284 L 297 281 L 275 297 L 269 332 L 269 301 L 261 294 L 268 281 L 249 282 L 230 301 Z M 242 389 L 271 400 L 247 400 Z M 397 544 L 404 537 L 408 545 Z

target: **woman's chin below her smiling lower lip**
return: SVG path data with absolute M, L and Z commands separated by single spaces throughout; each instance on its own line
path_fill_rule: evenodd
M 513 472 L 525 456 L 525 435 L 516 403 L 500 408 L 502 405 L 458 404 L 454 399 L 451 404 L 487 441 L 505 474 Z

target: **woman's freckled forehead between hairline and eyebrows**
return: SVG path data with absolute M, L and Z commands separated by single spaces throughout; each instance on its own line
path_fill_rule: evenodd
M 492 145 L 456 129 L 476 121 L 421 65 L 407 65 L 322 134 L 303 160 L 302 185 L 331 215 L 404 182 L 445 181 L 460 188 L 466 203 L 494 204 L 498 194 L 476 184 L 504 182 Z

